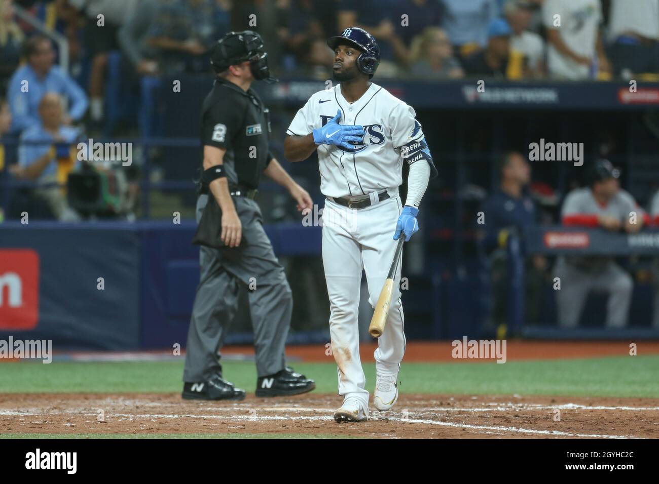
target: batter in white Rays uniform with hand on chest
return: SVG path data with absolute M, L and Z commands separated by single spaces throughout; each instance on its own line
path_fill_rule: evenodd
M 359 359 L 357 308 L 362 269 L 369 302 L 375 306 L 401 232 L 418 230 L 418 205 L 436 175 L 414 109 L 370 82 L 380 62 L 376 40 L 361 28 L 347 28 L 328 40 L 333 49 L 331 89 L 312 95 L 287 130 L 285 156 L 303 161 L 318 149 L 320 189 L 326 196 L 322 255 L 330 302 L 331 348 L 338 367 L 343 405 L 336 421 L 368 419 L 369 393 Z M 409 163 L 407 200 L 403 160 Z M 338 221 L 338 222 L 337 222 Z M 343 221 L 343 223 L 341 223 Z M 397 265 L 395 289 L 384 333 L 375 351 L 374 406 L 389 410 L 398 398 L 397 379 L 405 352 L 403 308 Z

